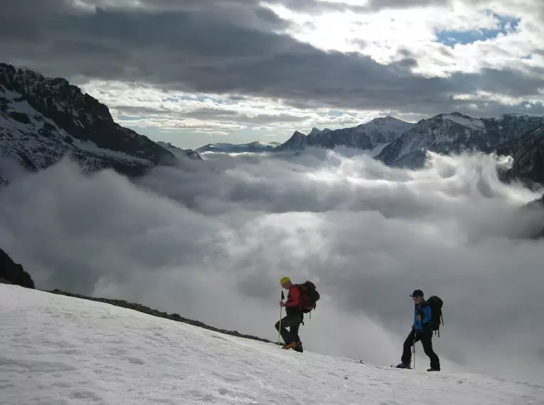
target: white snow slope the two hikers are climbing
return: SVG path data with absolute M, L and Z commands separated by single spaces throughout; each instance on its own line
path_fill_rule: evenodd
M 287 352 L 18 286 L 0 284 L 0 308 L 3 405 L 495 405 L 544 399 L 540 386 Z

